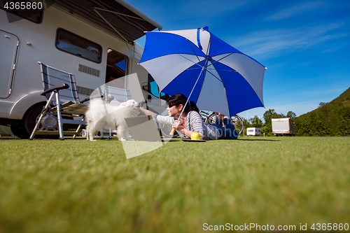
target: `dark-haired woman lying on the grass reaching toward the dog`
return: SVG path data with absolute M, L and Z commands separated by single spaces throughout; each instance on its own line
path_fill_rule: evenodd
M 230 119 L 223 118 L 224 116 L 220 114 L 216 118 L 215 124 L 205 125 L 193 101 L 186 105 L 181 118 L 176 120 L 179 118 L 186 101 L 187 98 L 183 94 L 174 94 L 169 97 L 167 99 L 169 116 L 158 115 L 144 108 L 140 108 L 140 112 L 144 115 L 152 115 L 153 120 L 157 123 L 172 125 L 181 139 L 190 139 L 193 132 L 199 133 L 200 139 L 204 140 L 237 139 L 235 126 L 232 125 Z M 223 124 L 225 127 L 223 127 Z

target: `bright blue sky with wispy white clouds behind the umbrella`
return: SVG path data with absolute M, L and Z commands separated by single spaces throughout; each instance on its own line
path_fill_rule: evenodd
M 350 87 L 350 1 L 127 0 L 163 31 L 209 31 L 267 67 L 265 108 L 302 115 Z M 146 36 L 137 40 L 144 47 Z

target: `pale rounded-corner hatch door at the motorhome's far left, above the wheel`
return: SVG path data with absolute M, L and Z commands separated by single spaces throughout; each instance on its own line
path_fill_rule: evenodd
M 10 96 L 19 42 L 19 38 L 14 34 L 0 30 L 0 98 L 3 99 Z

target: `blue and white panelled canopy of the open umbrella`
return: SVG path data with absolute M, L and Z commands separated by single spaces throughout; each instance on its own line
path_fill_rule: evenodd
M 211 34 L 208 27 L 146 32 L 139 64 L 162 92 L 184 94 L 201 110 L 232 116 L 264 106 L 265 66 Z

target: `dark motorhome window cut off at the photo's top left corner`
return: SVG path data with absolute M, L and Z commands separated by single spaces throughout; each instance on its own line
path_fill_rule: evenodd
M 3 1 L 0 9 L 13 13 L 13 15 L 17 15 L 37 24 L 43 21 L 43 4 L 41 2 L 36 3 L 28 0 L 22 0 L 20 1 L 20 4 L 22 4 L 22 6 L 18 4 L 16 5 L 16 3 L 18 2 Z M 10 15 L 8 15 L 8 20 L 15 22 L 19 19 L 17 19 L 15 16 L 10 17 Z

